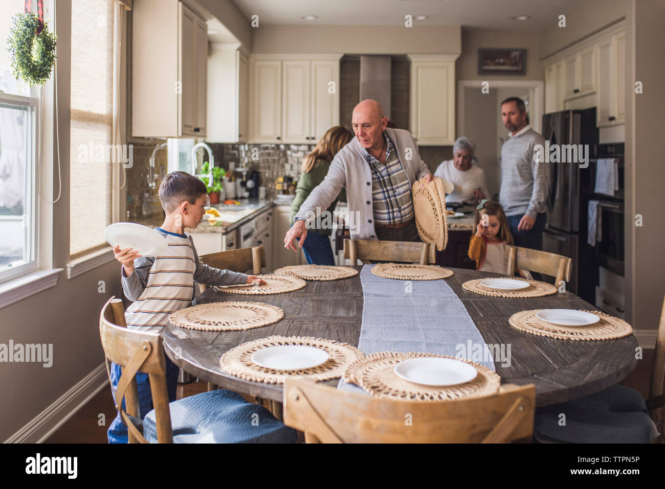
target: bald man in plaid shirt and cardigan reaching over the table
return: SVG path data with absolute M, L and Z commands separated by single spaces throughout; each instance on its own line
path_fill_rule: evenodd
M 293 218 L 284 247 L 298 251 L 307 237 L 307 222 L 346 189 L 351 239 L 421 241 L 414 219 L 411 188 L 432 181 L 410 132 L 388 129 L 388 118 L 376 100 L 363 100 L 352 116 L 356 138 L 332 159 L 328 175 Z

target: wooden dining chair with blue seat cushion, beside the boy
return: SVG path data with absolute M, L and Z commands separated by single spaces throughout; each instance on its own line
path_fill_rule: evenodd
M 162 337 L 121 326 L 120 310 L 122 301 L 114 297 L 104 304 L 99 335 L 109 382 L 108 360 L 122 368 L 114 400 L 130 443 L 172 443 L 174 435 L 184 435 L 179 439 L 182 442 L 295 442 L 293 429 L 277 421 L 265 407 L 248 403 L 233 391 L 218 389 L 169 403 Z M 148 373 L 154 406 L 144 419 L 139 411 L 138 372 Z

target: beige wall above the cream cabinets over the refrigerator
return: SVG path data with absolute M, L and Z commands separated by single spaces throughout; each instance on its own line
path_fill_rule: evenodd
M 616 23 L 626 16 L 630 2 L 631 0 L 585 0 L 575 9 L 561 12 L 566 16 L 566 27 L 559 27 L 558 21 L 553 21 L 551 27 L 543 31 L 540 37 L 541 58 L 546 58 Z

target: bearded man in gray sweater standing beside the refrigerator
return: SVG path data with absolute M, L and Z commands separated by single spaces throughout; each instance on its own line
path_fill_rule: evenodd
M 527 124 L 524 101 L 509 97 L 501 102 L 501 118 L 509 138 L 501 146 L 499 202 L 508 219 L 515 246 L 541 250 L 549 192 L 549 163 L 537 161 L 537 144 L 543 136 Z

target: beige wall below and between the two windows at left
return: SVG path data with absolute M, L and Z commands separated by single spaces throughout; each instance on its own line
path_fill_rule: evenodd
M 70 1 L 57 0 L 58 109 L 63 193 L 53 205 L 53 267 L 65 268 L 69 258 L 69 86 Z M 47 122 L 48 124 L 48 122 Z M 54 152 L 56 151 L 54 141 Z M 48 162 L 54 165 L 53 161 Z M 57 167 L 53 174 L 57 175 Z M 53 195 L 58 195 L 57 176 Z M 94 194 L 91 193 L 91 198 Z M 84 209 L 84 203 L 82 203 Z M 58 283 L 0 309 L 0 343 L 53 343 L 53 366 L 3 363 L 0 376 L 0 440 L 6 440 L 104 361 L 99 341 L 99 313 L 111 295 L 120 295 L 115 262 Z M 100 294 L 98 281 L 106 283 Z M 109 403 L 111 402 L 109 391 Z M 96 419 L 90 420 L 96 426 Z M 107 420 L 107 427 L 110 420 Z M 105 430 L 107 427 L 99 427 Z

